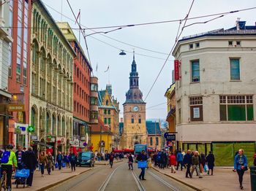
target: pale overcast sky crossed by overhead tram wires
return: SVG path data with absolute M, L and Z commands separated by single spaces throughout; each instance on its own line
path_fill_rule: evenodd
M 43 2 L 57 9 L 63 15 L 74 19 L 72 12 L 70 11 L 66 0 L 43 0 Z M 101 26 L 116 26 L 116 25 L 128 25 L 135 23 L 148 23 L 162 20 L 176 20 L 182 19 L 188 12 L 192 0 L 170 1 L 170 0 L 69 0 L 75 14 L 78 14 L 81 9 L 81 24 L 83 26 L 101 27 Z M 61 21 L 61 15 L 48 7 L 49 12 L 56 21 Z M 245 9 L 249 7 L 256 7 L 255 0 L 196 0 L 189 17 L 196 17 L 200 15 L 209 15 L 219 12 L 229 12 L 236 9 Z M 255 25 L 255 13 L 256 9 L 252 9 L 246 12 L 237 12 L 234 14 L 226 15 L 225 17 L 211 21 L 206 24 L 194 25 L 184 29 L 181 36 L 187 36 L 191 34 L 202 33 L 205 31 L 211 31 L 217 28 L 230 28 L 235 26 L 237 17 L 241 17 L 241 20 L 246 20 L 246 25 Z M 62 21 L 68 21 L 70 26 L 75 26 L 75 22 L 62 16 Z M 187 24 L 194 22 L 202 22 L 209 20 L 213 17 L 188 20 Z M 159 70 L 161 69 L 167 55 L 149 52 L 141 50 L 138 47 L 146 48 L 148 50 L 154 50 L 157 52 L 169 53 L 178 29 L 178 23 L 164 23 L 155 24 L 151 26 L 136 26 L 130 28 L 124 28 L 112 33 L 105 34 L 118 41 L 132 44 L 137 47 L 121 44 L 108 37 L 94 34 L 88 36 L 89 54 L 91 57 L 91 65 L 94 69 L 94 74 L 99 78 L 99 90 L 105 89 L 105 85 L 108 83 L 108 73 L 104 71 L 110 66 L 110 84 L 113 87 L 113 95 L 118 98 L 120 102 L 121 114 L 123 112 L 122 104 L 125 101 L 125 93 L 129 90 L 129 71 L 131 70 L 132 54 L 127 52 L 127 55 L 118 55 L 120 50 L 127 50 L 132 52 L 135 48 L 135 52 L 138 54 L 154 56 L 161 59 L 149 58 L 142 55 L 135 55 L 135 61 L 140 76 L 140 90 L 143 91 L 143 98 L 146 97 L 154 79 L 157 77 Z M 97 29 L 102 31 L 101 29 Z M 107 29 L 108 31 L 109 29 Z M 86 30 L 86 34 L 91 34 L 93 31 Z M 75 31 L 78 37 L 78 32 Z M 102 42 L 99 42 L 97 38 Z M 110 45 L 104 44 L 108 43 Z M 83 39 L 81 38 L 81 44 L 86 52 L 86 47 Z M 118 48 L 115 48 L 118 47 Z M 95 71 L 98 63 L 98 72 Z M 173 69 L 173 57 L 170 57 L 170 61 L 165 65 L 162 74 L 159 76 L 157 83 L 153 90 L 146 99 L 147 107 L 155 106 L 166 102 L 165 91 L 171 84 L 171 71 Z M 165 119 L 167 116 L 167 106 L 162 104 L 146 111 L 146 118 L 161 118 Z

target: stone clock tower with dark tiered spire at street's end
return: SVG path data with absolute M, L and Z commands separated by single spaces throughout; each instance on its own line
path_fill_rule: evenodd
M 146 103 L 139 88 L 139 75 L 133 52 L 132 71 L 129 73 L 129 90 L 124 106 L 123 149 L 133 149 L 135 144 L 146 144 Z

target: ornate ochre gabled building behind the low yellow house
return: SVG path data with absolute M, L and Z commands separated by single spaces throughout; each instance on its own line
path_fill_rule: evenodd
M 99 90 L 98 93 L 99 119 L 109 126 L 112 132 L 111 147 L 119 147 L 119 102 L 112 94 L 112 85 L 106 85 L 106 90 Z

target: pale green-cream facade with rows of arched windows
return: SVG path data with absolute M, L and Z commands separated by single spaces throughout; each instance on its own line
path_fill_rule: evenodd
M 42 1 L 32 1 L 30 64 L 31 138 L 66 152 L 72 138 L 73 61 L 70 46 Z

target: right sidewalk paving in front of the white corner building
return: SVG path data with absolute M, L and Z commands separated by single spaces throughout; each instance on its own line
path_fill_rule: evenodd
M 186 178 L 186 169 L 183 169 L 183 171 L 176 171 L 176 174 L 172 174 L 170 172 L 170 168 L 165 168 L 164 170 L 158 167 L 153 168 L 162 174 L 176 179 L 178 182 L 187 184 L 192 188 L 196 188 L 196 190 L 240 190 L 238 175 L 230 168 L 214 168 L 214 176 L 209 176 L 208 174 L 204 173 L 203 179 L 199 179 L 198 176 L 196 176 L 196 172 L 194 172 L 192 179 Z M 243 186 L 244 190 L 251 190 L 249 171 L 246 171 L 244 174 Z

